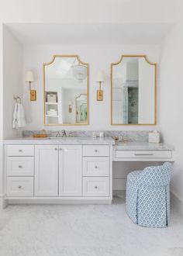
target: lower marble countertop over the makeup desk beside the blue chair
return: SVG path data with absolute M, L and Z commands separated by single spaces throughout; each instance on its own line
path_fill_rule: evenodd
M 113 146 L 114 150 L 174 150 L 167 144 L 155 144 L 148 142 L 116 142 Z

